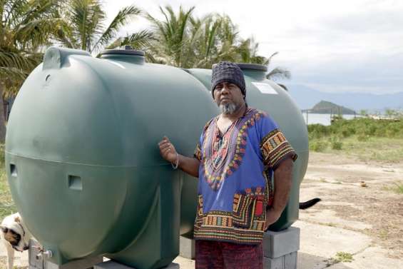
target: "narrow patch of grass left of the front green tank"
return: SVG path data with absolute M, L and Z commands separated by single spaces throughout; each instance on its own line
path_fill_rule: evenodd
M 0 146 L 0 219 L 16 213 L 16 206 L 11 198 L 9 183 L 4 169 L 4 146 Z

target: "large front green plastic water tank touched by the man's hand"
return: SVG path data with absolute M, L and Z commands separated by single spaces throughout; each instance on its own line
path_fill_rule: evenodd
M 168 265 L 193 229 L 197 179 L 160 157 L 168 136 L 193 155 L 218 108 L 180 68 L 142 51 L 51 48 L 21 87 L 6 133 L 16 207 L 51 261 L 105 255 Z

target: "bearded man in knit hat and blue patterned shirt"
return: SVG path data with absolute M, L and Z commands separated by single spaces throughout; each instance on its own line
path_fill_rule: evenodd
M 205 125 L 194 157 L 178 154 L 166 137 L 160 153 L 199 178 L 195 267 L 263 268 L 263 233 L 285 208 L 297 155 L 270 116 L 248 108 L 236 64 L 213 66 L 211 81 L 222 113 Z

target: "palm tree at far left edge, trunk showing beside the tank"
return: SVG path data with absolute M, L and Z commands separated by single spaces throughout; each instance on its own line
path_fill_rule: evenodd
M 42 46 L 66 26 L 57 18 L 59 0 L 0 0 L 0 142 L 4 143 L 3 98 L 16 94 L 42 59 Z

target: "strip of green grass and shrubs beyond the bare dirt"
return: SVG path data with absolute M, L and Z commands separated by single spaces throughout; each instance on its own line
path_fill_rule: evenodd
M 345 153 L 361 161 L 403 161 L 403 118 L 339 120 L 331 126 L 309 125 L 308 132 L 311 151 Z

